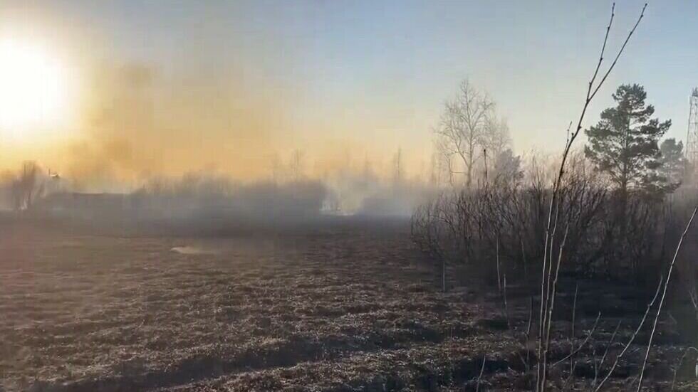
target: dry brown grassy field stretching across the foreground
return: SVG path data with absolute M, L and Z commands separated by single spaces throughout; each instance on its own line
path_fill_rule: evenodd
M 441 292 L 437 268 L 424 263 L 400 222 L 228 238 L 88 235 L 13 224 L 2 226 L 0 254 L 4 391 L 531 386 L 501 298 L 467 279 Z M 599 307 L 608 317 L 580 350 L 568 382 L 591 382 L 593 359 L 619 320 L 618 340 L 632 333 L 647 302 L 627 297 L 597 289 L 580 298 L 577 344 Z M 571 327 L 568 302 L 556 324 L 561 336 Z M 512 286 L 508 306 L 511 323 L 525 330 L 527 296 Z M 668 388 L 683 347 L 670 327 L 660 327 L 647 385 Z M 609 386 L 636 376 L 646 340 L 640 334 Z M 555 346 L 558 359 L 569 351 L 566 339 Z M 569 366 L 558 367 L 561 388 Z M 693 390 L 684 373 L 677 389 Z

